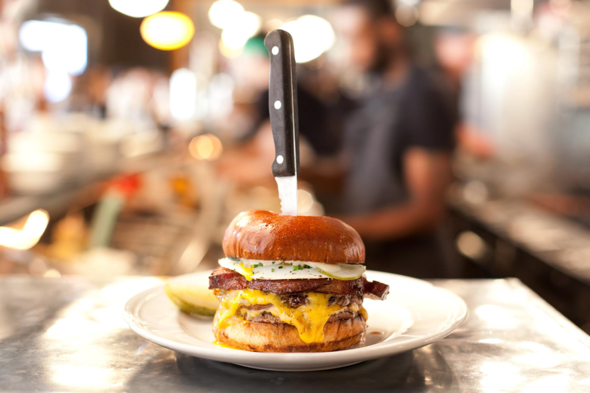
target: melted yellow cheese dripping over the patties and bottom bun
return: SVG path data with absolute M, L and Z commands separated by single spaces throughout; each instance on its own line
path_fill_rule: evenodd
M 247 315 L 255 318 L 263 312 L 271 313 L 284 323 L 295 326 L 299 337 L 306 344 L 312 342 L 322 342 L 324 339 L 324 325 L 326 325 L 330 315 L 347 309 L 353 312 L 359 312 L 366 320 L 365 309 L 358 305 L 339 306 L 328 305 L 330 299 L 329 293 L 307 292 L 307 304 L 298 308 L 290 308 L 278 295 L 266 293 L 257 289 L 231 290 L 221 296 L 221 305 L 219 306 L 217 322 L 218 332 L 237 321 L 236 318 L 244 318 Z M 267 305 L 269 308 L 260 310 L 242 309 L 241 305 Z M 236 318 L 232 318 L 232 317 Z

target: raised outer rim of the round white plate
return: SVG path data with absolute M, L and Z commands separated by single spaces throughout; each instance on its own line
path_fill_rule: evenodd
M 176 276 L 171 278 L 182 279 L 191 275 L 204 275 L 210 273 L 209 270 L 203 270 L 201 272 L 188 273 L 186 275 Z M 267 362 L 281 362 L 283 364 L 310 364 L 312 361 L 314 364 L 320 364 L 323 362 L 333 362 L 333 364 L 349 364 L 351 361 L 362 362 L 371 359 L 382 358 L 385 356 L 391 356 L 400 354 L 402 352 L 411 351 L 413 349 L 421 348 L 425 345 L 430 345 L 446 336 L 450 335 L 455 329 L 461 326 L 467 319 L 468 308 L 465 301 L 457 294 L 451 292 L 446 288 L 433 285 L 430 282 L 408 277 L 402 275 L 396 275 L 394 273 L 379 272 L 377 270 L 367 270 L 366 273 L 369 276 L 391 276 L 392 278 L 411 280 L 419 285 L 427 285 L 431 290 L 435 290 L 444 293 L 448 298 L 453 299 L 455 306 L 457 306 L 457 314 L 454 315 L 452 321 L 448 322 L 447 326 L 441 331 L 430 333 L 427 335 L 419 335 L 416 337 L 408 338 L 403 342 L 389 342 L 383 341 L 376 345 L 364 346 L 361 348 L 347 349 L 346 351 L 332 351 L 332 352 L 250 352 L 240 351 L 239 349 L 224 348 L 206 348 L 204 346 L 191 345 L 183 342 L 175 341 L 173 339 L 162 337 L 148 328 L 142 326 L 141 319 L 134 315 L 134 310 L 139 310 L 138 306 L 145 303 L 145 301 L 153 296 L 157 296 L 159 292 L 163 293 L 165 283 L 154 286 L 152 288 L 143 290 L 142 292 L 136 293 L 125 303 L 122 316 L 124 321 L 129 325 L 129 328 L 137 335 L 142 336 L 149 341 L 171 349 L 172 351 L 181 352 L 186 355 L 201 357 L 214 361 L 230 362 L 233 364 L 240 363 L 241 365 L 247 364 L 260 364 Z M 179 328 L 180 325 L 179 325 Z M 181 328 L 182 329 L 182 328 Z M 188 335 L 188 333 L 185 333 Z M 198 340 L 190 335 L 192 339 Z M 400 345 L 402 344 L 402 345 Z M 311 365 L 311 364 L 310 364 Z

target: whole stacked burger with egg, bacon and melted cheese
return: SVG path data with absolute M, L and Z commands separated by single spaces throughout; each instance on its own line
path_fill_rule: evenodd
M 221 301 L 213 332 L 221 345 L 256 352 L 326 352 L 363 341 L 363 298 L 389 286 L 365 278 L 365 245 L 330 217 L 242 212 L 209 276 Z

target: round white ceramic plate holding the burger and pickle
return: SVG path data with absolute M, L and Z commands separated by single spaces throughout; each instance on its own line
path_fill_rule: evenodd
M 173 280 L 198 280 L 209 273 Z M 279 354 L 215 345 L 212 319 L 179 312 L 166 297 L 163 285 L 129 299 L 123 318 L 143 338 L 173 351 L 273 371 L 326 370 L 411 351 L 444 338 L 467 318 L 463 299 L 446 289 L 391 273 L 368 270 L 366 275 L 369 280 L 388 284 L 390 292 L 383 301 L 365 299 L 369 313 L 366 343 L 343 351 Z

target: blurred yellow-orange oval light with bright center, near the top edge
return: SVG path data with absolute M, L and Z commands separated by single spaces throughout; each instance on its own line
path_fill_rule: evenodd
M 195 25 L 182 12 L 164 11 L 143 19 L 140 32 L 143 40 L 152 47 L 171 51 L 191 42 Z

